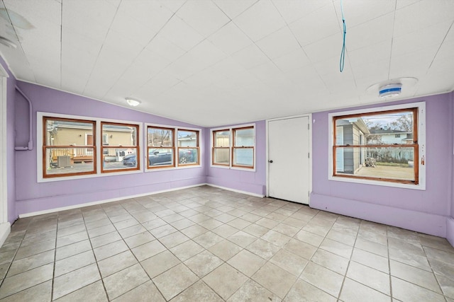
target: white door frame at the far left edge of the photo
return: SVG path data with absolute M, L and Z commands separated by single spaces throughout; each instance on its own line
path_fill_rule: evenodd
M 3 245 L 6 238 L 8 237 L 9 233 L 11 232 L 11 224 L 8 221 L 8 169 L 6 165 L 7 161 L 7 137 L 8 132 L 6 131 L 7 122 L 6 122 L 6 110 L 7 108 L 7 100 L 6 100 L 6 86 L 7 82 L 6 79 L 8 78 L 8 73 L 0 64 L 0 106 L 1 106 L 1 114 L 0 114 L 0 124 L 1 124 L 1 132 L 0 132 L 0 161 L 1 161 L 1 168 L 0 168 L 0 246 Z

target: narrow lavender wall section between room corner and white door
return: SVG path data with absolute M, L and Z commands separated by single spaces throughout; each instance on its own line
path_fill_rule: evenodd
M 229 127 L 229 126 L 226 126 Z M 211 185 L 228 187 L 265 196 L 266 194 L 266 128 L 265 121 L 255 122 L 255 171 L 235 170 L 211 167 L 210 149 L 205 152 L 208 165 L 206 181 Z M 206 144 L 210 144 L 209 130 L 205 135 Z

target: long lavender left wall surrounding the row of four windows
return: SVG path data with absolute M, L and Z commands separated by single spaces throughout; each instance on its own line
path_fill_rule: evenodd
M 178 127 L 196 127 L 164 117 L 122 108 L 97 100 L 84 98 L 50 88 L 17 82 L 18 87 L 33 103 L 33 151 L 16 151 L 16 214 L 68 207 L 105 199 L 128 197 L 206 182 L 204 166 L 178 170 L 162 170 L 129 175 L 105 175 L 99 178 L 41 182 L 36 180 L 36 112 L 101 117 L 114 120 L 168 124 Z M 16 93 L 16 101 L 24 102 Z M 18 108 L 21 108 L 18 105 Z M 18 144 L 27 141 L 28 111 L 16 112 Z M 206 129 L 202 129 L 204 135 Z M 11 131 L 13 133 L 13 131 Z M 24 139 L 25 133 L 25 139 Z M 145 134 L 144 134 L 145 135 Z M 145 141 L 145 140 L 144 140 Z M 203 149 L 204 146 L 201 146 Z M 13 161 L 12 161 L 13 162 Z M 203 162 L 206 165 L 206 162 Z M 12 177 L 12 179 L 14 179 Z

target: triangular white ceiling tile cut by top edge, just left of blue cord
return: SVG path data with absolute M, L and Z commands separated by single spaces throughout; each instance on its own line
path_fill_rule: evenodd
M 333 6 L 332 0 L 304 0 L 304 1 L 282 1 L 272 0 L 277 10 L 281 13 L 287 23 L 292 23 L 304 18 L 309 13 L 316 11 L 323 6 Z

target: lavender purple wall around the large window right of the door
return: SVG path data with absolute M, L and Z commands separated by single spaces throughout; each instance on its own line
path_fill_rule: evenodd
M 450 192 L 453 95 L 433 95 L 389 105 L 419 101 L 426 101 L 425 191 L 328 180 L 328 112 L 318 112 L 312 115 L 315 122 L 311 207 L 445 237 L 446 219 L 452 215 L 453 202 Z

